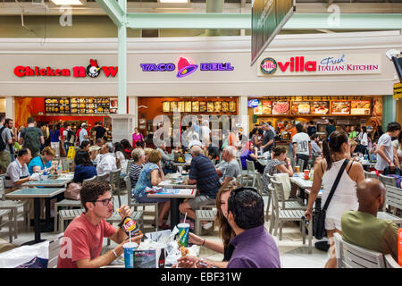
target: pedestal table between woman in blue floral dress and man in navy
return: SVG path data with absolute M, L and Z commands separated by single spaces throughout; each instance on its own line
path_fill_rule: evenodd
M 165 189 L 155 194 L 148 194 L 148 198 L 171 199 L 171 230 L 180 223 L 179 199 L 196 198 L 197 189 Z

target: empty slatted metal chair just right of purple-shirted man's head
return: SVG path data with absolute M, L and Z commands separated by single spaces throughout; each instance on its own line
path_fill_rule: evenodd
M 312 253 L 313 248 L 313 223 L 304 223 L 302 216 L 305 212 L 302 210 L 281 210 L 278 201 L 277 190 L 272 187 L 272 184 L 268 186 L 272 192 L 272 215 L 270 222 L 270 233 L 272 233 L 272 228 L 274 229 L 273 235 L 277 234 L 279 228 L 279 240 L 282 240 L 282 228 L 284 222 L 300 222 L 302 225 L 302 237 L 303 244 L 306 244 L 306 229 L 308 231 L 308 253 Z

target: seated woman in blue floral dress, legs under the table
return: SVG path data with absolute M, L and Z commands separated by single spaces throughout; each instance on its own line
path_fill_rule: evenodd
M 136 187 L 133 189 L 133 195 L 138 203 L 159 203 L 159 227 L 163 230 L 169 229 L 169 226 L 163 223 L 163 217 L 171 209 L 169 198 L 147 198 L 146 188 L 157 186 L 164 180 L 164 174 L 161 166 L 162 155 L 157 150 L 152 150 L 149 155 L 149 162 L 139 173 Z

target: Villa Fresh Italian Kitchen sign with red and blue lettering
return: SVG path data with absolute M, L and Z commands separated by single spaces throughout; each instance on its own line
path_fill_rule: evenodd
M 258 76 L 340 75 L 381 73 L 380 54 L 281 55 L 264 54 Z

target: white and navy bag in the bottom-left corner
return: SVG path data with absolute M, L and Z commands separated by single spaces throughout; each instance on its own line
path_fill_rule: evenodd
M 49 241 L 14 248 L 0 254 L 0 268 L 47 268 Z

